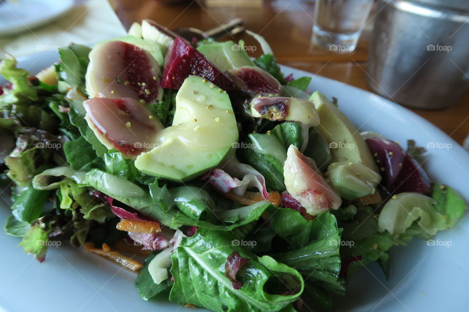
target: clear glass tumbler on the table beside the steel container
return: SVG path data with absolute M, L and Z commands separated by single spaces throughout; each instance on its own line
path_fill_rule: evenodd
M 316 0 L 313 41 L 333 52 L 354 51 L 372 6 L 373 0 Z

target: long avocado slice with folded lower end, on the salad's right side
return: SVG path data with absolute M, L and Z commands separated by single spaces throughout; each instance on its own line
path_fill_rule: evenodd
M 381 175 L 368 145 L 334 103 L 316 91 L 309 98 L 316 107 L 318 131 L 329 143 L 332 161 L 326 175 L 343 198 L 353 200 L 375 192 Z

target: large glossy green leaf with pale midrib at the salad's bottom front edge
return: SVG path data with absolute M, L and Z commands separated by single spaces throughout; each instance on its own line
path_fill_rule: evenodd
M 198 230 L 182 238 L 171 254 L 174 285 L 170 300 L 193 304 L 215 312 L 279 311 L 295 301 L 303 291 L 303 279 L 294 269 L 270 256 L 256 257 L 232 243 L 227 232 Z M 225 276 L 230 254 L 237 251 L 250 261 L 238 273 L 242 287 L 235 290 Z M 285 290 L 287 294 L 282 292 Z

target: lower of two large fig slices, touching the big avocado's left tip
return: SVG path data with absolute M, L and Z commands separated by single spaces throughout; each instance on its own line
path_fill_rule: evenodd
M 91 98 L 83 106 L 85 119 L 101 143 L 127 157 L 148 151 L 163 129 L 145 105 L 132 98 Z

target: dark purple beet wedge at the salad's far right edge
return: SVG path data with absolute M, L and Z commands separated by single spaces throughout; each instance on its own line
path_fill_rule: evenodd
M 397 142 L 377 137 L 365 141 L 380 168 L 387 192 L 429 194 L 430 179 L 425 170 Z

